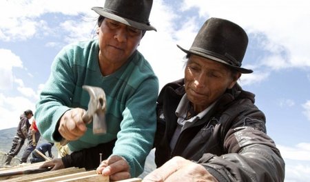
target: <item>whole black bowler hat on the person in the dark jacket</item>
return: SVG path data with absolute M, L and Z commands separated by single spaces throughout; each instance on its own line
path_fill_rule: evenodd
M 189 50 L 177 46 L 187 54 L 197 54 L 228 65 L 239 72 L 251 73 L 253 70 L 241 68 L 247 42 L 247 33 L 236 23 L 210 18 L 200 28 Z

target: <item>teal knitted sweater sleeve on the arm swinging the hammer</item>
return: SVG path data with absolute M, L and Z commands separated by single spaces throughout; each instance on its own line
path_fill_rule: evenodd
M 48 141 L 61 140 L 60 136 L 54 136 L 54 131 L 63 113 L 70 109 L 66 105 L 72 105 L 70 98 L 73 90 L 74 74 L 68 53 L 63 49 L 52 63 L 50 78 L 41 92 L 34 116 L 37 120 L 37 128 Z

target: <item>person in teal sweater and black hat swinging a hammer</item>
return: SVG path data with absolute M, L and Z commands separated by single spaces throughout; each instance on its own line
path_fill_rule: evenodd
M 100 15 L 99 39 L 59 52 L 37 103 L 35 117 L 41 135 L 51 142 L 70 141 L 72 158 L 104 145 L 108 152 L 102 154 L 106 160 L 101 172 L 115 181 L 141 174 L 154 143 L 158 79 L 136 50 L 145 31 L 156 30 L 148 20 L 151 9 L 152 0 L 106 0 L 104 8 L 92 8 Z M 92 123 L 82 119 L 90 100 L 83 85 L 105 91 L 106 134 L 94 135 Z M 99 158 L 98 152 L 64 167 L 96 168 Z

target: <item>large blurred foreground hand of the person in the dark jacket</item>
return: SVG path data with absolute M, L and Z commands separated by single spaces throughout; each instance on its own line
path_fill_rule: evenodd
M 143 182 L 154 181 L 216 181 L 204 167 L 180 156 L 167 161 L 161 168 L 149 173 Z

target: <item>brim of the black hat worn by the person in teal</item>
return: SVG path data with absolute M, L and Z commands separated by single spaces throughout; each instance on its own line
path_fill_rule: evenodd
M 137 28 L 139 30 L 155 30 L 155 31 L 157 31 L 156 28 L 154 28 L 151 25 L 147 25 L 145 23 L 139 23 L 139 22 L 136 22 L 136 21 L 132 21 L 130 19 L 119 17 L 116 14 L 112 14 L 110 12 L 106 12 L 105 9 L 102 8 L 102 7 L 93 7 L 92 10 L 94 10 L 94 12 L 100 14 L 103 17 L 106 17 L 108 19 L 113 19 L 114 21 L 118 21 L 118 22 L 124 23 L 127 26 L 131 26 L 131 27 Z

